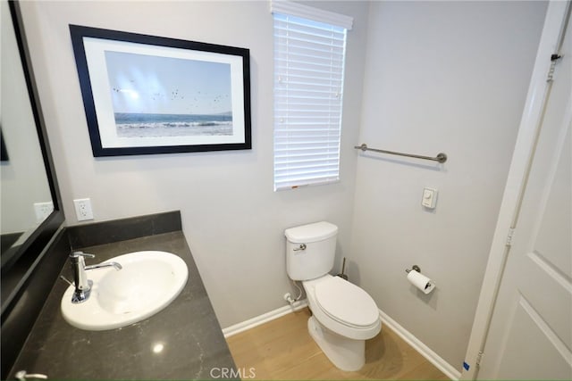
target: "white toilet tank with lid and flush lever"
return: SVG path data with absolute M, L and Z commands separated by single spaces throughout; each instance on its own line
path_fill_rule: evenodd
M 286 271 L 292 280 L 322 277 L 333 268 L 338 227 L 315 222 L 284 230 Z

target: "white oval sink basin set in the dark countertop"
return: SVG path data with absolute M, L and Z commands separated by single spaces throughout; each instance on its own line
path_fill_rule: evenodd
M 172 253 L 135 252 L 105 262 L 110 261 L 122 269 L 88 270 L 93 286 L 87 301 L 71 302 L 74 286 L 63 294 L 63 319 L 72 326 L 102 331 L 147 319 L 181 293 L 189 276 L 186 263 Z

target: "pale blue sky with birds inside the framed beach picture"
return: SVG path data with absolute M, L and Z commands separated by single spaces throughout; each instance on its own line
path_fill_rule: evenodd
M 105 51 L 114 112 L 230 113 L 231 65 Z

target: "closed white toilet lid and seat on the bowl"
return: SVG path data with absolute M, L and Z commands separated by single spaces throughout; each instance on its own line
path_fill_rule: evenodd
M 329 318 L 348 327 L 367 328 L 379 321 L 374 299 L 341 277 L 328 277 L 316 284 L 315 302 Z

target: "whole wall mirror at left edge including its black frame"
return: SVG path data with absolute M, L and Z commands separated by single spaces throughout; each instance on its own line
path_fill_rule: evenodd
M 19 4 L 0 0 L 0 259 L 2 321 L 63 224 Z

